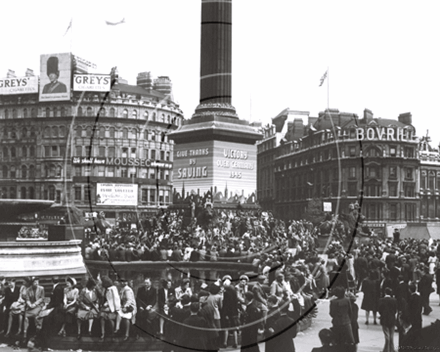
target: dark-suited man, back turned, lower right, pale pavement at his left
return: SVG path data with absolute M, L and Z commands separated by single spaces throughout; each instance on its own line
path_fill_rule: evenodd
M 397 301 L 391 297 L 393 290 L 385 288 L 385 296 L 379 300 L 380 324 L 385 335 L 383 352 L 394 352 L 394 328 L 396 325 Z

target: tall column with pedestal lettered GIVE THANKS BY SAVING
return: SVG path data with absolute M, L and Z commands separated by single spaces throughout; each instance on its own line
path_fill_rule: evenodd
M 262 136 L 231 105 L 232 1 L 202 0 L 201 29 L 200 104 L 171 134 L 174 188 L 249 197 L 257 188 L 255 143 Z

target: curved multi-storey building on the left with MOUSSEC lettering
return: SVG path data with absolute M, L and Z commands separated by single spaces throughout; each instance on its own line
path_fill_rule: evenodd
M 109 218 L 171 204 L 168 133 L 183 114 L 170 79 L 144 72 L 137 85 L 118 79 L 109 91 L 68 87 L 63 100 L 42 101 L 41 82 L 40 99 L 38 87 L 0 95 L 1 197 L 75 204 Z

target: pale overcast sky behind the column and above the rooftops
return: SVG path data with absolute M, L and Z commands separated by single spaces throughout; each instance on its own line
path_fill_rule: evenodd
M 327 107 L 397 119 L 440 141 L 438 1 L 234 0 L 232 104 L 270 122 L 285 108 Z M 169 76 L 190 118 L 199 99 L 200 0 L 2 1 L 0 76 L 39 72 L 40 54 L 70 52 L 130 84 L 138 72 Z M 64 36 L 73 18 L 72 29 Z M 107 26 L 105 21 L 125 24 Z M 437 134 L 437 135 L 436 135 Z

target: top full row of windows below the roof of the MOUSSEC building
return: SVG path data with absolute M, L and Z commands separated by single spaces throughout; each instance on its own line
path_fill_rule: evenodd
M 46 107 L 43 109 L 44 111 L 44 117 L 64 117 L 68 116 L 70 114 L 70 107 Z M 20 113 L 21 111 L 21 113 Z M 173 125 L 180 126 L 182 119 L 178 116 L 171 115 L 165 115 L 165 114 L 157 114 L 156 112 L 149 112 L 148 110 L 144 110 L 143 112 L 138 112 L 138 110 L 133 109 L 131 112 L 129 112 L 128 109 L 123 109 L 121 111 L 121 116 L 117 116 L 118 110 L 115 108 L 92 108 L 91 106 L 88 107 L 78 107 L 77 109 L 77 116 L 96 116 L 99 114 L 100 117 L 108 116 L 108 117 L 122 117 L 122 118 L 132 118 L 132 119 L 140 119 L 143 120 L 149 120 L 149 121 L 157 121 L 157 122 L 163 122 Z M 151 115 L 151 116 L 150 116 Z M 0 116 L 1 117 L 1 116 Z M 38 117 L 38 110 L 37 108 L 23 108 L 23 109 L 5 109 L 3 111 L 3 118 L 4 119 L 17 119 L 17 118 L 27 118 L 27 117 Z

